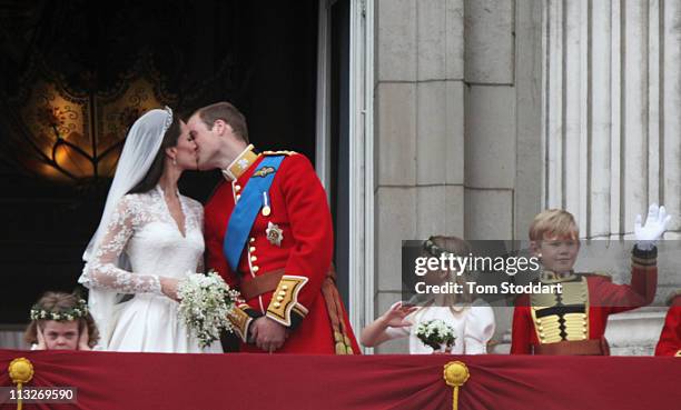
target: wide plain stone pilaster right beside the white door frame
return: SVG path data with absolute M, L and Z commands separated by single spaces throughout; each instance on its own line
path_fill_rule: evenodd
M 376 316 L 401 297 L 402 240 L 463 236 L 463 0 L 375 2 Z

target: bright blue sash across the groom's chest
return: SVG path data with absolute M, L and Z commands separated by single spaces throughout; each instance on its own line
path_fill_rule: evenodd
M 258 169 L 248 179 L 241 191 L 241 197 L 234 207 L 231 217 L 229 217 L 225 241 L 223 242 L 223 252 L 225 252 L 227 262 L 234 272 L 239 266 L 248 233 L 250 233 L 253 223 L 263 207 L 263 192 L 269 191 L 284 157 L 265 157 Z

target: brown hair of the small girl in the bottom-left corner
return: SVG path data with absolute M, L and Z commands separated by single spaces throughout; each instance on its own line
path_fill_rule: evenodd
M 38 327 L 40 326 L 40 329 L 42 329 L 43 321 L 52 320 L 52 313 L 60 314 L 61 321 L 63 321 L 68 314 L 73 314 L 73 320 L 78 320 L 78 331 L 81 332 L 82 329 L 87 326 L 88 346 L 90 348 L 95 347 L 95 344 L 97 344 L 97 341 L 99 340 L 99 331 L 97 330 L 97 324 L 95 324 L 92 316 L 87 312 L 87 308 L 85 312 L 82 310 L 77 311 L 79 308 L 81 308 L 83 303 L 85 301 L 81 301 L 78 296 L 72 293 L 46 292 L 38 300 L 38 302 L 36 302 L 36 304 L 33 306 L 33 310 L 45 312 L 47 313 L 45 316 L 49 318 L 31 320 L 28 328 L 26 329 L 26 333 L 23 334 L 23 340 L 28 344 L 38 343 Z

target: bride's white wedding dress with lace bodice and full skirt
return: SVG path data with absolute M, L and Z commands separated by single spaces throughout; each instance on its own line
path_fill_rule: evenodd
M 203 271 L 204 209 L 180 196 L 185 234 L 170 216 L 159 186 L 124 196 L 79 282 L 92 291 L 118 294 L 107 311 L 106 350 L 136 352 L 221 352 L 219 341 L 200 349 L 178 317 L 178 303 L 161 293 L 160 277 L 181 279 Z M 129 270 L 117 266 L 119 257 Z M 125 296 L 124 296 L 125 294 Z

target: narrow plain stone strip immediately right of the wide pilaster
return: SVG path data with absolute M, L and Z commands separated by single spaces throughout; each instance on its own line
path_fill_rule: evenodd
M 465 236 L 513 237 L 514 2 L 465 2 Z

